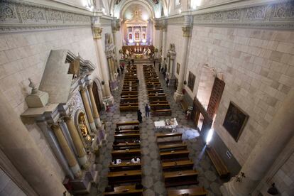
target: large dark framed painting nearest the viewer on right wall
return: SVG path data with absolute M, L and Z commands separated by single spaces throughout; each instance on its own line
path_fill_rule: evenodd
M 229 108 L 227 114 L 224 118 L 224 126 L 225 129 L 229 132 L 229 134 L 235 139 L 237 142 L 241 133 L 244 129 L 244 126 L 248 120 L 249 116 L 242 109 L 236 106 L 233 102 L 229 103 Z

